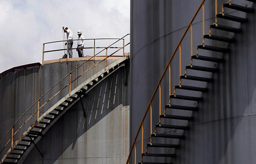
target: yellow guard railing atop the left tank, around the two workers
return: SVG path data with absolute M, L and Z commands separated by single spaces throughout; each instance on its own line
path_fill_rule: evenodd
M 73 41 L 76 41 L 78 39 L 74 39 Z M 93 49 L 93 56 L 96 56 L 96 49 L 120 49 L 122 48 L 122 55 L 124 56 L 125 55 L 125 49 L 123 48 L 125 46 L 125 39 L 124 38 L 96 38 L 96 39 L 83 39 L 83 40 L 92 40 L 93 41 L 93 46 L 92 47 L 84 47 L 83 49 Z M 117 42 L 119 41 L 122 41 L 122 47 L 116 47 L 116 46 L 108 46 L 108 47 L 104 47 L 104 46 L 96 46 L 96 40 L 118 40 Z M 68 55 L 68 47 L 67 49 L 54 49 L 54 50 L 49 50 L 49 51 L 45 51 L 45 46 L 47 44 L 52 44 L 52 43 L 60 43 L 60 42 L 66 42 L 67 43 L 68 40 L 59 40 L 59 41 L 53 41 L 53 42 L 48 42 L 48 43 L 43 43 L 43 53 L 42 53 L 42 66 L 44 66 L 44 63 L 49 63 L 46 62 L 44 60 L 44 55 L 45 53 L 48 53 L 48 52 L 58 52 L 58 51 L 67 51 L 67 58 L 64 59 L 65 61 L 70 61 L 69 59 L 69 55 Z M 116 43 L 117 43 L 116 42 Z M 76 49 L 76 48 L 72 48 L 73 49 Z M 95 60 L 95 58 L 93 58 L 93 60 Z

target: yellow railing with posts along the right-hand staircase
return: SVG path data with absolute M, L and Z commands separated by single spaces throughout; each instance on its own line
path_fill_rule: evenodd
M 136 157 L 136 153 L 137 153 L 136 143 L 137 143 L 137 138 L 138 138 L 140 132 L 141 132 L 141 153 L 143 153 L 143 139 L 144 139 L 143 138 L 144 137 L 144 127 L 143 126 L 144 126 L 144 121 L 145 121 L 145 118 L 146 118 L 146 116 L 148 114 L 148 111 L 150 111 L 150 135 L 152 134 L 152 102 L 153 102 L 153 100 L 155 98 L 155 95 L 157 94 L 157 91 L 159 91 L 159 104 L 158 105 L 159 105 L 159 124 L 160 124 L 160 121 L 161 121 L 161 119 L 160 119 L 160 115 L 161 115 L 161 82 L 162 82 L 164 76 L 166 75 L 167 70 L 169 69 L 169 95 L 171 95 L 171 65 L 170 64 L 171 64 L 172 59 L 174 58 L 176 52 L 179 50 L 179 76 L 181 76 L 181 48 L 182 48 L 181 47 L 181 43 L 182 43 L 185 35 L 187 34 L 187 32 L 190 29 L 190 49 L 191 49 L 190 53 L 191 53 L 191 56 L 192 56 L 192 54 L 193 54 L 193 48 L 192 48 L 192 46 L 193 46 L 193 44 L 192 44 L 193 43 L 192 23 L 193 23 L 195 17 L 197 16 L 197 14 L 198 14 L 198 12 L 200 11 L 201 8 L 202 8 L 202 31 L 203 31 L 202 32 L 202 35 L 203 35 L 203 42 L 202 42 L 202 44 L 204 44 L 204 2 L 205 2 L 205 0 L 202 0 L 201 4 L 199 5 L 198 9 L 196 10 L 194 16 L 190 20 L 188 26 L 186 27 L 185 32 L 183 33 L 182 37 L 180 38 L 180 41 L 178 42 L 174 52 L 172 53 L 172 56 L 169 59 L 169 62 L 167 63 L 167 65 L 166 65 L 166 67 L 165 67 L 165 69 L 163 71 L 163 74 L 162 74 L 160 80 L 157 83 L 156 88 L 154 89 L 153 95 L 151 96 L 151 99 L 150 99 L 150 101 L 148 103 L 148 106 L 147 106 L 147 108 L 145 110 L 145 113 L 143 115 L 142 121 L 140 122 L 140 126 L 139 126 L 139 128 L 137 130 L 137 133 L 136 133 L 135 138 L 133 140 L 133 143 L 131 145 L 131 149 L 130 149 L 130 152 L 129 152 L 126 164 L 130 164 L 130 161 L 131 161 L 130 158 L 131 158 L 131 155 L 133 153 L 133 150 L 134 150 L 134 164 L 136 164 L 136 162 L 137 162 L 136 161 L 136 158 L 137 158 Z M 215 0 L 215 15 L 216 14 L 217 14 L 217 0 Z M 217 17 L 216 16 L 215 16 L 215 23 L 217 23 Z M 211 29 L 209 28 L 209 34 L 210 34 L 210 32 L 211 32 Z M 196 53 L 198 55 L 198 49 L 197 49 Z M 192 59 L 191 59 L 191 63 L 190 64 L 192 65 Z M 186 69 L 185 69 L 185 74 L 184 75 L 186 75 Z M 179 80 L 179 85 L 180 84 L 181 84 L 181 78 Z M 174 94 L 176 94 L 176 90 L 175 89 L 174 89 Z M 170 103 L 171 103 L 171 99 L 169 98 L 169 104 Z M 166 109 L 165 108 L 164 108 L 164 114 L 166 114 Z M 152 142 L 152 137 L 150 137 L 150 142 Z M 146 152 L 147 151 L 148 150 L 146 150 Z

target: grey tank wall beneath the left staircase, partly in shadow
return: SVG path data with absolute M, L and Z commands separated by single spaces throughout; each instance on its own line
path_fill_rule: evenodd
M 90 163 L 93 159 L 87 158 L 125 157 L 129 149 L 125 74 L 125 67 L 118 69 L 82 98 L 87 117 L 80 100 L 72 106 L 38 142 L 44 157 L 34 147 L 23 164 Z

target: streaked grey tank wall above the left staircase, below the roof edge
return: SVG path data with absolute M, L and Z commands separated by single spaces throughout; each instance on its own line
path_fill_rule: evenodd
M 60 81 L 65 75 L 70 71 L 75 69 L 84 61 L 74 61 L 74 62 L 63 62 L 63 63 L 51 63 L 45 64 L 44 66 L 29 67 L 26 69 L 18 69 L 13 72 L 2 76 L 0 78 L 0 138 L 6 135 L 6 132 L 12 127 L 15 121 L 33 104 L 38 98 L 51 89 L 58 81 Z M 96 60 L 96 63 L 99 62 Z M 108 60 L 108 64 L 111 64 L 113 60 Z M 72 79 L 76 78 L 82 72 L 93 66 L 93 61 L 88 61 L 79 69 L 72 73 Z M 105 68 L 105 62 L 100 63 L 94 69 L 81 76 L 78 81 L 74 82 L 71 89 L 74 89 L 80 83 L 85 81 L 95 72 Z M 44 104 L 49 98 L 51 98 L 55 93 L 57 93 L 62 87 L 69 83 L 69 76 L 64 79 L 64 82 L 59 83 L 55 86 L 52 91 L 47 93 L 41 100 L 40 105 Z M 55 104 L 64 95 L 69 92 L 69 87 L 64 89 L 53 98 L 47 105 L 40 109 L 40 113 L 44 113 L 50 106 Z M 23 116 L 23 118 L 18 121 L 15 125 L 14 130 L 16 131 L 21 124 L 23 124 L 33 112 L 37 110 L 37 103 Z M 14 141 L 20 137 L 20 135 L 37 119 L 37 115 L 34 115 L 28 123 L 20 129 L 20 131 L 15 135 Z M 6 140 L 3 141 L 5 144 L 9 138 L 11 138 L 11 132 L 7 136 Z M 0 145 L 2 150 L 4 144 Z M 8 149 L 10 144 L 7 146 Z M 7 150 L 6 150 L 7 151 Z M 3 151 L 5 152 L 5 151 Z M 1 157 L 3 154 L 0 155 Z

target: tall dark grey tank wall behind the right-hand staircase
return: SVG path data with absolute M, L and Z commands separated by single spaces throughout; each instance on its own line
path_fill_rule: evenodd
M 239 5 L 252 6 L 252 3 L 245 0 L 232 0 Z M 193 14 L 198 8 L 201 0 L 131 0 L 131 66 L 130 66 L 130 138 L 136 135 L 140 121 L 145 109 L 150 101 L 151 95 L 162 75 L 162 72 L 177 46 L 180 37 L 186 29 Z M 205 34 L 208 27 L 215 22 L 214 0 L 205 2 Z M 218 12 L 221 12 L 221 5 L 225 0 L 218 0 Z M 244 17 L 243 12 L 226 10 L 232 15 Z M 196 47 L 202 43 L 202 10 L 194 20 L 193 26 L 193 55 Z M 213 77 L 214 83 L 191 83 L 183 81 L 183 85 L 207 86 L 209 92 L 202 95 L 201 92 L 182 92 L 177 94 L 203 97 L 202 103 L 194 104 L 187 102 L 186 106 L 199 106 L 199 111 L 168 111 L 169 114 L 193 115 L 195 121 L 173 121 L 170 124 L 189 124 L 190 130 L 184 134 L 186 139 L 180 141 L 180 150 L 175 150 L 177 158 L 173 163 L 234 163 L 237 158 L 247 158 L 247 163 L 254 163 L 255 158 L 251 152 L 255 149 L 249 145 L 255 145 L 255 129 L 253 117 L 255 114 L 254 90 L 256 88 L 255 75 L 255 42 L 254 42 L 254 14 L 247 14 L 248 23 L 244 23 L 241 28 L 243 32 L 235 35 L 236 43 L 227 44 L 218 41 L 205 40 L 206 45 L 227 47 L 231 49 L 230 54 L 213 53 L 199 50 L 198 55 L 209 57 L 222 57 L 225 63 L 202 63 L 193 61 L 194 65 L 216 66 L 220 69 L 219 73 L 213 75 L 209 73 L 189 72 L 192 75 Z M 239 27 L 239 23 L 218 19 L 219 24 Z M 213 35 L 233 37 L 232 33 L 220 32 L 212 29 Z M 181 43 L 182 74 L 185 73 L 185 66 L 190 64 L 190 30 Z M 179 83 L 179 57 L 178 52 L 171 63 L 172 93 L 174 86 Z M 191 75 L 190 74 L 190 75 Z M 168 75 L 168 71 L 167 71 Z M 169 103 L 169 79 L 168 76 L 161 83 L 161 109 Z M 152 103 L 153 107 L 153 126 L 157 124 L 159 117 L 159 92 Z M 172 101 L 172 103 L 179 103 Z M 150 126 L 149 114 L 144 122 L 144 143 L 149 140 Z M 243 128 L 244 127 L 244 128 Z M 243 129 L 242 129 L 243 128 Z M 154 129 L 153 129 L 154 130 Z M 174 134 L 183 134 L 181 131 Z M 178 142 L 178 141 L 177 141 Z M 168 141 L 164 141 L 168 143 Z M 170 144 L 170 143 L 169 143 Z M 248 147 L 241 148 L 241 145 Z M 141 135 L 137 139 L 137 158 L 140 158 Z M 218 146 L 216 146 L 218 145 Z M 239 147 L 240 146 L 240 147 Z M 236 147 L 233 149 L 233 147 Z M 245 151 L 246 149 L 246 151 Z M 145 152 L 145 150 L 144 150 Z M 169 153 L 172 150 L 168 150 Z M 200 152 L 200 153 L 198 153 Z M 246 154 L 242 153 L 246 152 Z M 131 158 L 132 160 L 134 158 Z M 159 162 L 170 162 L 170 159 Z M 238 160 L 237 163 L 241 163 Z

